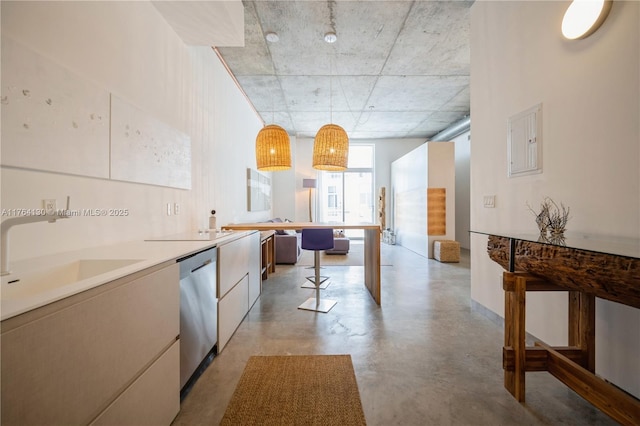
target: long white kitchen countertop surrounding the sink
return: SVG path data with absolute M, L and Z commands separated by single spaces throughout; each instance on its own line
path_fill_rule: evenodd
M 185 233 L 147 241 L 131 241 L 12 262 L 11 274 L 2 277 L 0 320 L 11 318 L 160 263 L 175 261 L 189 254 L 233 241 L 250 233 L 251 231 L 227 231 L 218 234 Z M 92 261 L 97 259 L 123 259 L 132 260 L 132 262 L 117 269 L 69 284 L 56 286 L 56 283 L 46 283 L 43 286 L 38 286 L 41 288 L 28 287 L 28 277 L 30 275 L 33 276 L 39 271 L 46 274 L 52 268 L 63 267 L 63 265 L 85 259 Z M 21 277 L 25 277 L 22 282 L 18 281 L 9 284 L 9 282 Z M 23 287 L 14 287 L 8 290 L 7 286 Z

